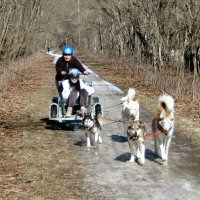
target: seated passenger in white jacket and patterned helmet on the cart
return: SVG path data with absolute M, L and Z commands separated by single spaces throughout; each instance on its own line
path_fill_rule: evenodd
M 80 114 L 83 116 L 86 112 L 87 98 L 94 93 L 94 88 L 84 83 L 79 78 L 80 75 L 81 72 L 78 69 L 72 68 L 68 73 L 69 79 L 62 82 L 62 96 L 64 101 L 67 102 L 66 117 L 71 117 L 77 99 L 79 99 Z

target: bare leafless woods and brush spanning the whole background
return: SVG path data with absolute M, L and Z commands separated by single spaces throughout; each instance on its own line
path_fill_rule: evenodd
M 145 84 L 172 74 L 161 88 L 200 100 L 199 0 L 1 0 L 0 11 L 1 66 L 69 44 L 148 71 Z

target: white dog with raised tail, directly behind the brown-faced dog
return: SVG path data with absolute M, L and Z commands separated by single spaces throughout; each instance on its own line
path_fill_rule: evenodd
M 135 98 L 135 89 L 129 88 L 125 97 L 121 98 L 122 104 L 122 118 L 124 123 L 124 135 L 126 136 L 129 121 L 139 120 L 139 100 Z

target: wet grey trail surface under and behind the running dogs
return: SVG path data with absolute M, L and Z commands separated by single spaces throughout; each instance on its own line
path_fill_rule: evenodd
M 103 143 L 89 152 L 83 149 L 85 138 L 73 135 L 81 163 L 89 166 L 86 168 L 85 182 L 93 184 L 101 195 L 109 199 L 199 199 L 199 146 L 190 146 L 189 141 L 176 130 L 170 147 L 168 166 L 164 166 L 155 157 L 153 138 L 145 141 L 144 166 L 128 162 L 130 152 L 123 136 L 123 125 L 109 121 L 121 118 L 121 107 L 112 106 L 119 105 L 124 94 L 95 74 L 90 79 L 93 79 L 96 95 L 105 106 L 108 120 L 102 130 Z M 152 113 L 141 106 L 140 116 L 147 124 L 147 133 L 151 133 Z

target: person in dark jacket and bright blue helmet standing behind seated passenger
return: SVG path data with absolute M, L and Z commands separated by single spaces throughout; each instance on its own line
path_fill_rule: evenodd
M 77 68 L 82 74 L 88 75 L 87 70 L 73 54 L 74 48 L 72 46 L 64 46 L 62 49 L 62 56 L 56 61 L 55 80 L 60 95 L 62 92 L 62 88 L 60 88 L 61 83 L 63 80 L 69 79 L 68 73 L 71 68 Z

